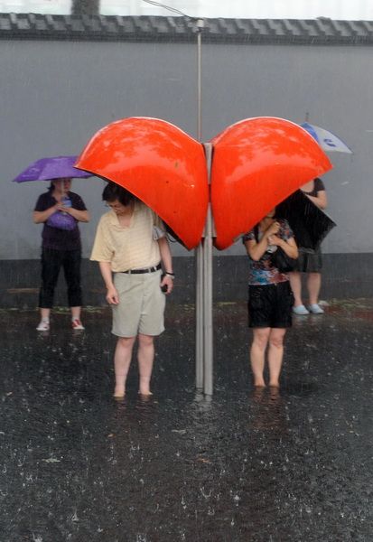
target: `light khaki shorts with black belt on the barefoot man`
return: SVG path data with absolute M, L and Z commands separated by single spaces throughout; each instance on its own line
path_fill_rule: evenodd
M 116 273 L 114 285 L 119 304 L 112 305 L 113 327 L 117 337 L 160 335 L 164 331 L 165 294 L 161 290 L 161 270 L 129 275 Z

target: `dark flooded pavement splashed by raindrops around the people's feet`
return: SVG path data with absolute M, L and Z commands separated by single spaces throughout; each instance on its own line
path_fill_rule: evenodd
M 1 322 L 2 542 L 373 539 L 373 304 L 297 317 L 280 392 L 255 392 L 246 304 L 215 307 L 215 393 L 194 389 L 194 309 L 169 304 L 154 397 L 111 398 L 107 309 Z

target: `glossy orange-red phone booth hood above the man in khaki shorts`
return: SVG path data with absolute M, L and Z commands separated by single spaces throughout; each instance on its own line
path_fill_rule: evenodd
M 113 122 L 94 135 L 76 167 L 117 182 L 153 209 L 186 248 L 200 243 L 209 201 L 203 146 L 149 117 Z

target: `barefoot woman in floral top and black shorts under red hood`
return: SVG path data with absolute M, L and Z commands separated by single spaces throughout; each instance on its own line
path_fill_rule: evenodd
M 266 386 L 264 369 L 266 350 L 269 386 L 278 388 L 283 364 L 284 334 L 292 325 L 294 296 L 287 274 L 280 273 L 271 256 L 278 247 L 287 256 L 298 257 L 298 248 L 288 222 L 267 213 L 254 229 L 243 237 L 250 260 L 248 276 L 248 319 L 253 328 L 250 362 L 254 386 Z

